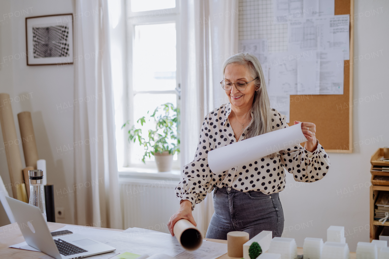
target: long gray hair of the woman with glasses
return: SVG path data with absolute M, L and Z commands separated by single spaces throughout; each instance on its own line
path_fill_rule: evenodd
M 262 67 L 258 58 L 249 53 L 239 53 L 231 56 L 224 62 L 223 77 L 226 66 L 232 63 L 244 65 L 251 73 L 252 78 L 258 77 L 258 79 L 254 80 L 255 86 L 258 86 L 259 89 L 254 93 L 254 100 L 251 107 L 251 111 L 254 114 L 252 114 L 252 123 L 246 138 L 255 137 L 273 131 L 270 100 L 266 90 L 265 77 L 263 76 Z M 275 154 L 270 156 L 274 157 Z

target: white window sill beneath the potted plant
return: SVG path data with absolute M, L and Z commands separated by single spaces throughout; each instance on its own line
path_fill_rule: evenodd
M 152 180 L 174 180 L 181 179 L 180 170 L 170 172 L 158 172 L 156 168 L 138 168 L 138 167 L 121 167 L 119 170 L 119 179 L 152 179 Z

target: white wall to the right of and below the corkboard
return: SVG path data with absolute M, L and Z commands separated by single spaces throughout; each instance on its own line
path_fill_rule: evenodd
M 353 99 L 357 103 L 352 107 L 353 142 L 358 143 L 352 154 L 329 154 L 331 168 L 318 182 L 303 185 L 294 182 L 291 175 L 287 178 L 291 187 L 280 193 L 284 236 L 296 238 L 300 247 L 305 237 L 323 238 L 325 242 L 330 225 L 345 226 L 351 251 L 356 250 L 357 242 L 369 242 L 370 157 L 379 147 L 389 145 L 389 2 L 355 0 L 354 13 L 357 60 Z M 373 52 L 375 58 L 368 59 Z M 374 101 L 370 100 L 372 95 Z

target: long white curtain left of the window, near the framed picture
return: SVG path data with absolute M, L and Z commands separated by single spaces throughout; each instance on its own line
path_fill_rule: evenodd
M 74 212 L 75 224 L 121 229 L 107 1 L 75 1 Z

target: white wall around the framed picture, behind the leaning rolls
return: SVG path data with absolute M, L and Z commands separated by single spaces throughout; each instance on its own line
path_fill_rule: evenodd
M 24 15 L 20 15 L 21 10 Z M 3 63 L 0 64 L 0 92 L 14 99 L 28 94 L 28 99 L 16 98 L 19 101 L 11 103 L 18 136 L 17 114 L 30 111 L 39 158 L 46 159 L 47 163 L 47 183 L 54 184 L 55 206 L 65 210 L 65 219 L 57 219 L 57 222 L 69 224 L 74 222 L 70 206 L 74 196 L 63 193 L 64 188 L 73 186 L 74 155 L 63 152 L 63 146 L 71 147 L 73 143 L 73 110 L 63 107 L 74 99 L 73 66 L 27 66 L 26 58 L 21 56 L 26 53 L 25 17 L 72 13 L 73 10 L 72 0 L 0 1 L 0 63 Z M 2 135 L 0 141 L 2 143 Z M 20 151 L 24 164 L 22 147 Z M 4 184 L 8 184 L 4 149 L 0 149 L 0 175 Z

